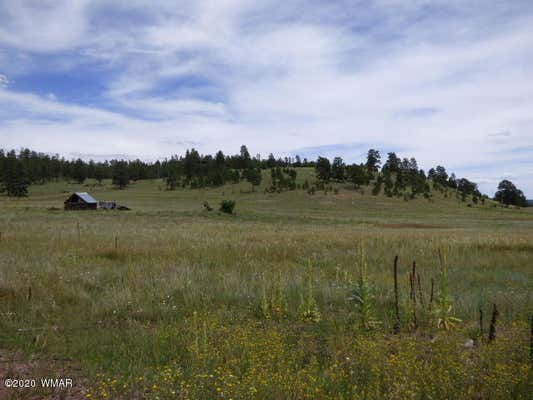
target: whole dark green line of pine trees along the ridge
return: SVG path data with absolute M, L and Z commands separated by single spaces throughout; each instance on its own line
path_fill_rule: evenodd
M 415 158 L 399 158 L 390 152 L 382 163 L 378 150 L 370 149 L 366 161 L 346 164 L 341 157 L 332 161 L 318 157 L 316 161 L 295 157 L 274 157 L 266 159 L 258 154 L 250 155 L 246 146 L 241 146 L 238 154 L 225 155 L 218 151 L 213 155 L 202 155 L 195 149 L 187 150 L 182 156 L 174 155 L 162 161 L 145 162 L 137 160 L 110 160 L 96 162 L 80 158 L 67 160 L 59 155 L 38 153 L 30 149 L 0 149 L 0 191 L 8 196 L 27 195 L 28 186 L 65 179 L 84 183 L 86 179 L 102 182 L 111 179 L 118 188 L 124 188 L 131 181 L 163 179 L 168 190 L 178 187 L 203 188 L 217 187 L 226 183 L 249 182 L 252 190 L 262 182 L 262 170 L 270 169 L 271 186 L 268 191 L 294 190 L 299 167 L 315 169 L 316 188 L 305 182 L 304 189 L 313 191 L 326 187 L 331 182 L 349 183 L 354 189 L 371 186 L 372 194 L 384 193 L 386 196 L 412 199 L 419 195 L 431 197 L 432 190 L 447 195 L 453 189 L 464 201 L 471 197 L 474 203 L 484 202 L 487 196 L 480 193 L 475 182 L 467 178 L 457 178 L 448 174 L 443 166 L 428 170 L 427 174 L 418 167 Z M 494 199 L 503 204 L 526 206 L 523 193 L 510 181 L 504 180 L 498 186 Z

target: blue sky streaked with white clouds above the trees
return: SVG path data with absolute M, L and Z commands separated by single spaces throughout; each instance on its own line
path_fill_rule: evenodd
M 530 0 L 0 0 L 0 148 L 369 148 L 533 198 Z

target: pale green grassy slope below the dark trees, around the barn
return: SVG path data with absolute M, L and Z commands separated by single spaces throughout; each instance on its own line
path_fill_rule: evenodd
M 219 188 L 166 190 L 162 180 L 147 180 L 132 183 L 125 190 L 117 190 L 110 181 L 98 184 L 88 180 L 85 184 L 59 181 L 31 186 L 28 198 L 10 200 L 0 197 L 5 207 L 29 208 L 46 211 L 48 208 L 62 209 L 67 194 L 87 191 L 98 200 L 114 200 L 132 208 L 133 214 L 172 213 L 173 215 L 198 215 L 208 217 L 203 208 L 207 201 L 217 208 L 222 199 L 237 201 L 237 219 L 274 220 L 289 218 L 300 223 L 322 222 L 341 224 L 390 223 L 429 223 L 443 227 L 473 227 L 482 221 L 497 225 L 508 224 L 514 219 L 529 218 L 533 213 L 525 209 L 518 211 L 504 209 L 487 200 L 485 205 L 475 205 L 471 201 L 461 201 L 450 192 L 432 192 L 430 200 L 418 197 L 405 201 L 401 197 L 389 198 L 383 194 L 374 196 L 370 187 L 354 190 L 349 184 L 335 184 L 336 191 L 317 190 L 310 195 L 304 190 L 267 193 L 271 185 L 268 171 L 255 192 L 246 182 L 226 184 Z M 311 168 L 298 169 L 297 183 L 305 180 L 314 182 Z M 337 194 L 335 194 L 337 193 Z

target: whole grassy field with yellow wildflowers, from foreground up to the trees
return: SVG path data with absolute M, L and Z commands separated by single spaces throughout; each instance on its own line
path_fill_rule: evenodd
M 310 175 L 303 172 L 299 179 Z M 75 190 L 132 210 L 63 211 Z M 236 200 L 236 215 L 216 211 L 222 199 Z M 369 189 L 267 194 L 242 183 L 170 192 L 146 181 L 119 191 L 59 182 L 33 186 L 25 199 L 0 197 L 0 231 L 0 349 L 33 366 L 20 371 L 3 356 L 2 372 L 74 374 L 72 398 L 533 393 L 533 210 L 467 207 L 442 195 L 405 202 Z M 363 305 L 350 301 L 358 285 L 370 288 Z M 488 343 L 493 303 L 499 316 Z M 444 330 L 439 317 L 462 321 Z M 0 397 L 30 393 L 56 395 L 12 389 Z

